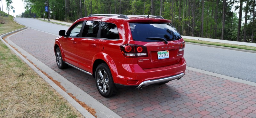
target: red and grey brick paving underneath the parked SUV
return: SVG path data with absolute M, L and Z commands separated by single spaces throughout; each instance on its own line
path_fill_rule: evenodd
M 56 36 L 28 29 L 9 39 L 123 118 L 256 118 L 256 87 L 187 70 L 180 80 L 102 97 L 92 76 L 73 67 L 59 69 Z

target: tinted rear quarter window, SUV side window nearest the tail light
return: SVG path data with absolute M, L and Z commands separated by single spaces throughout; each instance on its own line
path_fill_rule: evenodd
M 100 27 L 100 38 L 119 39 L 116 25 L 102 22 Z

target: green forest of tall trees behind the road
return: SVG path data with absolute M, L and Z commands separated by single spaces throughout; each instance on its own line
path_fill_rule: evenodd
M 5 1 L 10 10 L 12 0 Z M 51 19 L 67 22 L 89 14 L 160 15 L 171 20 L 181 35 L 256 43 L 255 0 L 22 1 L 26 11 L 16 17 L 44 18 L 45 13 L 48 18 L 45 6 Z

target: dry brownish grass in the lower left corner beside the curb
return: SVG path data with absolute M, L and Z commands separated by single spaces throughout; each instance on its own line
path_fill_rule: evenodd
M 0 117 L 83 117 L 0 42 Z

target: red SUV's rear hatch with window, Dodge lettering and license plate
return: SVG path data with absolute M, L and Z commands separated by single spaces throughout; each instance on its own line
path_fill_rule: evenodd
M 184 40 L 170 22 L 163 21 L 165 22 L 158 20 L 129 23 L 135 51 L 147 50 L 147 56 L 137 54 L 137 61 L 142 69 L 170 68 L 177 65 L 183 57 Z

